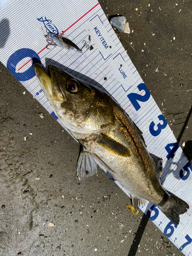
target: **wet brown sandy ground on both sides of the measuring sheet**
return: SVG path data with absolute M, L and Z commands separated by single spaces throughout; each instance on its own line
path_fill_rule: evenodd
M 100 5 L 129 22 L 133 32 L 118 37 L 191 160 L 192 2 Z M 2 64 L 0 71 L 0 255 L 182 255 L 142 212 L 132 215 L 102 170 L 76 180 L 78 144 Z

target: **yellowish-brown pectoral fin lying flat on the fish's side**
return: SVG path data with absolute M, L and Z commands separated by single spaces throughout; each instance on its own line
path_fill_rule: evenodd
M 121 157 L 130 157 L 131 152 L 121 143 L 113 140 L 112 138 L 101 134 L 96 139 L 97 144 L 102 146 L 105 150 L 109 151 L 112 154 L 121 156 Z

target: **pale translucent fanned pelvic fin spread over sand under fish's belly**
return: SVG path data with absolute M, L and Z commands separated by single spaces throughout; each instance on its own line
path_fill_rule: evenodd
M 83 178 L 91 177 L 94 174 L 97 174 L 97 161 L 91 154 L 85 152 L 82 148 L 77 162 L 77 178 L 82 180 Z

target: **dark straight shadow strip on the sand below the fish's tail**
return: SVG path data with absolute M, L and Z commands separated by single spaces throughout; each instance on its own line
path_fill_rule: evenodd
M 145 214 L 143 214 L 142 220 L 141 220 L 141 222 L 139 224 L 139 227 L 137 229 L 135 238 L 133 240 L 133 243 L 131 245 L 130 251 L 129 251 L 127 256 L 134 256 L 134 255 L 136 255 L 136 252 L 137 252 L 138 246 L 140 244 L 141 238 L 143 236 L 144 230 L 146 228 L 147 222 L 148 222 L 148 217 Z

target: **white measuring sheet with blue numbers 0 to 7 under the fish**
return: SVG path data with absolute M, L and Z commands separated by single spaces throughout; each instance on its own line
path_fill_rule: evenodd
M 192 167 L 99 3 L 96 0 L 44 0 L 25 1 L 24 6 L 22 0 L 15 0 L 0 9 L 0 16 L 5 34 L 0 60 L 61 125 L 38 84 L 31 58 L 41 61 L 46 69 L 52 63 L 101 87 L 129 114 L 143 132 L 148 151 L 163 159 L 163 187 L 189 204 L 186 214 L 180 215 L 179 225 L 170 222 L 152 203 L 142 206 L 141 210 L 189 255 L 192 251 Z M 51 33 L 64 33 L 79 48 L 86 40 L 91 48 L 83 49 L 82 53 L 59 47 L 47 49 L 42 31 L 45 27 Z

